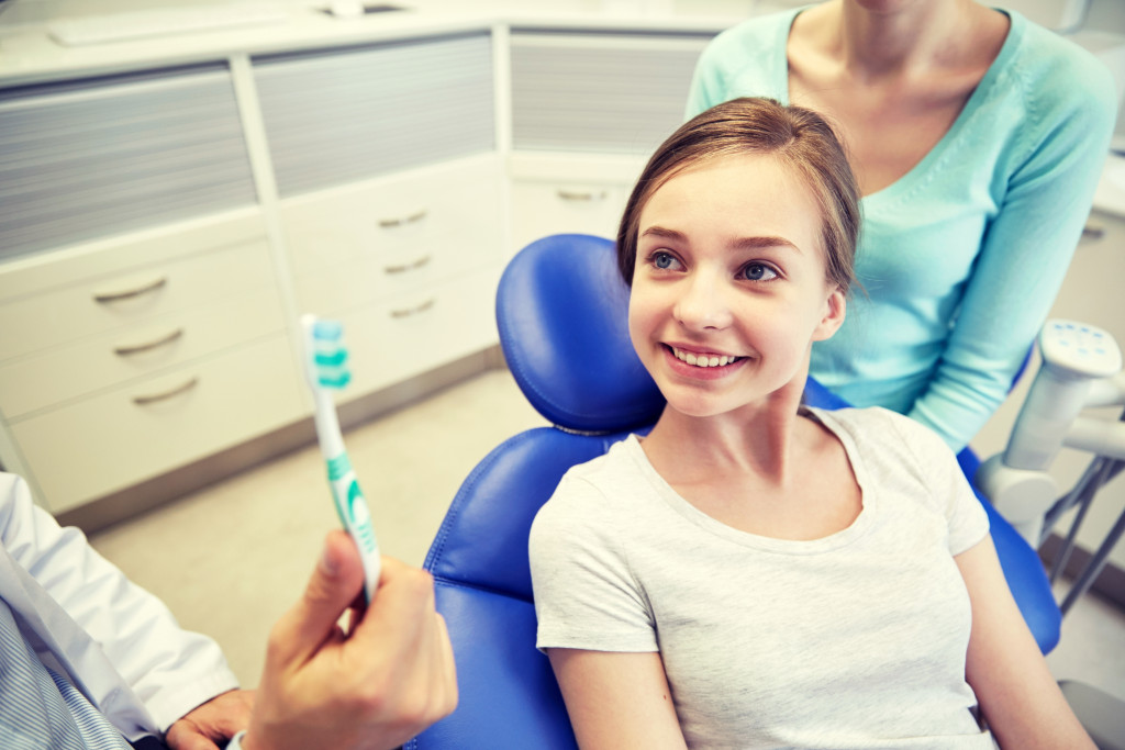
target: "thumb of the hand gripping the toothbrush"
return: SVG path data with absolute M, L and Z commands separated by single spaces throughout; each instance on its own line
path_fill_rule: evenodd
M 362 588 L 363 566 L 356 543 L 344 532 L 333 531 L 324 540 L 324 551 L 305 593 L 278 621 L 271 641 L 290 659 L 307 660 Z

